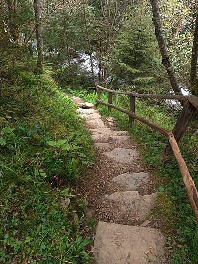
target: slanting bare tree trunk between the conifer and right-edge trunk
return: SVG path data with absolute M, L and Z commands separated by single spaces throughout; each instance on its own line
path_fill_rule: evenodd
M 152 5 L 152 13 L 153 13 L 153 22 L 155 26 L 155 35 L 158 41 L 159 49 L 162 56 L 162 64 L 166 68 L 166 71 L 168 73 L 168 77 L 170 80 L 171 87 L 176 95 L 182 95 L 181 90 L 179 88 L 177 79 L 174 74 L 174 70 L 172 67 L 172 64 L 170 62 L 170 58 L 168 56 L 168 52 L 166 49 L 166 44 L 163 38 L 162 29 L 161 29 L 161 22 L 160 22 L 160 16 L 159 16 L 159 4 L 158 0 L 150 0 Z

